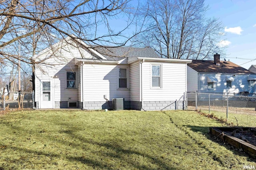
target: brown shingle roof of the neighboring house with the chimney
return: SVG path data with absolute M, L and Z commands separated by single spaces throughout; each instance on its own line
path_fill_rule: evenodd
M 197 72 L 227 73 L 227 74 L 255 74 L 231 61 L 220 61 L 220 66 L 209 60 L 192 60 L 188 66 Z

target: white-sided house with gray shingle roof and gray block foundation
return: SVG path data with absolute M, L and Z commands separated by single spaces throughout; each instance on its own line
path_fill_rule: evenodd
M 151 48 L 88 48 L 76 38 L 56 43 L 34 60 L 35 104 L 41 108 L 111 109 L 124 98 L 125 109 L 184 109 L 186 64 L 162 59 Z

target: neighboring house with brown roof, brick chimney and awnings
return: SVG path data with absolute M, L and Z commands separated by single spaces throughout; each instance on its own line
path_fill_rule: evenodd
M 255 93 L 256 74 L 230 61 L 193 60 L 187 65 L 188 92 L 234 94 Z

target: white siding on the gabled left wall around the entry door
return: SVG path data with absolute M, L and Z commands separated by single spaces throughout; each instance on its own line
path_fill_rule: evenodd
M 51 51 L 41 53 L 36 60 L 49 58 Z M 92 56 L 84 50 L 84 57 Z M 56 57 L 50 57 L 45 62 L 49 64 L 38 64 L 35 69 L 35 97 L 39 101 L 40 79 L 54 79 L 54 100 L 55 101 L 77 101 L 78 89 L 67 89 L 66 71 L 77 72 L 78 66 L 74 63 L 74 57 L 81 57 L 78 49 L 72 45 L 66 45 L 56 51 Z M 40 68 L 39 68 L 40 67 Z M 76 83 L 77 86 L 77 83 Z M 70 99 L 69 99 L 70 98 Z

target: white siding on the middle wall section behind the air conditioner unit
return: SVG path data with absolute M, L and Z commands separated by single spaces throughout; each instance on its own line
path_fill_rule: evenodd
M 128 68 L 128 65 L 122 68 Z M 108 100 L 113 98 L 125 98 L 130 100 L 129 89 L 119 89 L 118 84 L 118 66 L 114 64 L 84 64 L 84 101 L 85 102 L 102 102 L 104 95 Z

